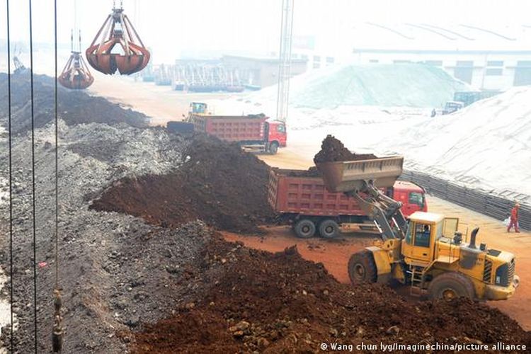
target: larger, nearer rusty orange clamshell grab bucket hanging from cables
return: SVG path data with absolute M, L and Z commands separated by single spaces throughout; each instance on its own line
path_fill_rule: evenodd
M 144 69 L 150 57 L 122 8 L 113 8 L 85 54 L 98 72 L 114 74 L 118 70 L 122 75 Z

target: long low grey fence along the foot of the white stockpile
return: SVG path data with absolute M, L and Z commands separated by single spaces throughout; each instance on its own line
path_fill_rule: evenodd
M 404 171 L 400 179 L 421 185 L 427 193 L 435 197 L 454 202 L 498 220 L 504 220 L 510 215 L 510 210 L 516 201 L 514 198 L 504 198 L 489 191 L 467 188 L 464 185 L 421 172 Z M 520 202 L 520 228 L 531 230 L 531 205 L 525 204 L 524 200 L 518 201 Z

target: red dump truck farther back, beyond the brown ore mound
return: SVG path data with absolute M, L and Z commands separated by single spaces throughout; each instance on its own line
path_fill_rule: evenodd
M 188 122 L 197 132 L 205 132 L 227 142 L 237 142 L 243 149 L 276 154 L 286 146 L 283 122 L 257 115 L 212 115 L 205 103 L 192 103 Z

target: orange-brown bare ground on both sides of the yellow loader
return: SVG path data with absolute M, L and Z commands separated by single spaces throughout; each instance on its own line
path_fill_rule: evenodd
M 531 234 L 507 234 L 498 220 L 471 212 L 463 207 L 453 205 L 438 198 L 428 197 L 430 210 L 460 218 L 463 227 L 475 225 L 480 227 L 479 240 L 492 248 L 515 253 L 517 257 L 516 273 L 520 276 L 520 287 L 515 295 L 506 301 L 489 302 L 489 305 L 501 309 L 527 331 L 531 331 Z M 268 227 L 260 238 L 223 232 L 228 241 L 241 241 L 253 249 L 281 251 L 286 247 L 297 246 L 301 256 L 309 261 L 321 262 L 329 273 L 339 282 L 348 284 L 347 263 L 350 255 L 366 246 L 372 246 L 372 236 L 350 233 L 338 240 L 297 239 L 288 227 Z M 398 289 L 406 294 L 406 291 Z

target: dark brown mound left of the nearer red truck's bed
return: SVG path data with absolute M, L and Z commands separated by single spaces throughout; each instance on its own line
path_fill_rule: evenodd
M 195 135 L 182 166 L 162 176 L 126 178 L 91 208 L 143 217 L 164 227 L 202 219 L 217 229 L 258 232 L 273 217 L 267 200 L 269 167 L 236 144 Z

